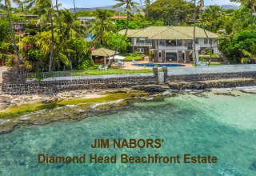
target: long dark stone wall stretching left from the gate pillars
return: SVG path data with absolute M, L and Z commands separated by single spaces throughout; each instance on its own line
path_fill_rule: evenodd
M 2 75 L 2 94 L 55 94 L 65 90 L 91 90 L 110 88 L 129 88 L 130 86 L 158 84 L 158 69 L 153 69 L 153 75 L 134 75 L 115 78 L 84 78 L 76 80 L 58 80 L 42 82 L 26 82 L 26 77 L 19 77 L 14 72 L 4 72 Z

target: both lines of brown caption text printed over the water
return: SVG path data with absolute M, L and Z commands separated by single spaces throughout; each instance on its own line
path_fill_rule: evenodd
M 90 146 L 92 149 L 95 148 L 156 148 L 160 149 L 164 139 L 94 139 L 94 142 Z M 161 154 L 142 154 L 140 156 L 130 156 L 129 154 L 113 154 L 113 155 L 99 155 L 99 154 L 82 154 L 81 156 L 52 156 L 50 154 L 38 154 L 39 164 L 58 164 L 58 163 L 147 163 L 147 164 L 209 164 L 217 163 L 218 158 L 207 155 L 193 155 L 193 154 L 173 154 L 170 156 L 162 156 Z

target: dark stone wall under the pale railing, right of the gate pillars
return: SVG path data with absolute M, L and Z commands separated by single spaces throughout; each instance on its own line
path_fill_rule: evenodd
M 256 78 L 256 71 L 253 72 L 234 72 L 234 73 L 214 73 L 214 74 L 176 74 L 166 75 L 166 82 L 184 81 L 197 82 L 218 79 L 234 79 L 234 78 Z

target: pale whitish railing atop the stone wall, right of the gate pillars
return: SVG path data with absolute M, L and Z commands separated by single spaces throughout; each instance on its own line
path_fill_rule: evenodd
M 256 64 L 250 65 L 224 65 L 224 66 L 191 66 L 168 68 L 168 74 L 214 74 L 256 72 Z

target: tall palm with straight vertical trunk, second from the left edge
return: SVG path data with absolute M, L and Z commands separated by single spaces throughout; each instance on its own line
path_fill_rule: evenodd
M 54 8 L 51 0 L 38 0 L 35 2 L 34 11 L 41 15 L 49 18 L 50 21 L 50 31 L 51 31 L 51 42 L 50 42 L 50 57 L 49 57 L 49 72 L 52 70 L 52 60 L 54 57 Z

